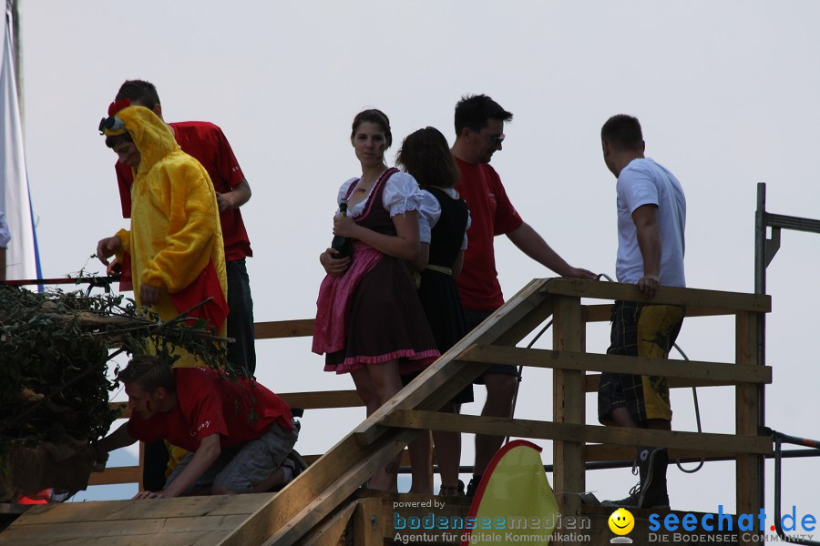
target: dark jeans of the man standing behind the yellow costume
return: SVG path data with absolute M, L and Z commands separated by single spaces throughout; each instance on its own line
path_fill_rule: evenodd
M 245 258 L 227 262 L 228 273 L 228 360 L 237 368 L 256 371 L 256 347 L 253 344 L 253 300 Z

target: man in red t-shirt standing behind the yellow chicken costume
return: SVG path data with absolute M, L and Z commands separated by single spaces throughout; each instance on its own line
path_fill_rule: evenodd
M 119 87 L 116 100 L 128 99 L 132 105 L 145 106 L 162 119 L 157 87 L 144 80 L 126 80 Z M 179 147 L 196 158 L 208 171 L 220 207 L 220 225 L 225 244 L 225 267 L 228 279 L 228 359 L 252 376 L 256 371 L 256 349 L 253 333 L 253 300 L 245 258 L 253 256 L 251 241 L 242 220 L 240 207 L 251 199 L 251 186 L 233 154 L 228 138 L 219 126 L 205 121 L 183 121 L 166 124 Z M 118 161 L 115 165 L 122 217 L 131 217 L 132 170 Z

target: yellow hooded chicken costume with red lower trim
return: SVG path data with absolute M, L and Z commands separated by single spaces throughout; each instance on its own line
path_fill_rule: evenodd
M 115 114 L 140 155 L 131 187 L 131 229 L 117 233 L 122 251 L 130 255 L 137 304 L 142 283 L 163 289 L 159 302 L 151 307 L 163 320 L 213 298 L 192 316 L 210 319 L 210 325 L 224 336 L 225 253 L 208 172 L 179 148 L 168 126 L 148 108 L 128 106 Z M 175 365 L 198 364 L 185 360 L 192 358 L 186 353 Z

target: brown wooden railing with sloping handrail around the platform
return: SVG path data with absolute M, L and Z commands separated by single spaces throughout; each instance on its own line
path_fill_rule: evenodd
M 536 279 L 492 316 L 425 369 L 410 385 L 376 410 L 353 432 L 315 460 L 240 530 L 227 545 L 293 543 L 312 532 L 323 518 L 349 501 L 373 471 L 404 450 L 421 430 L 481 432 L 553 441 L 554 490 L 561 512 L 582 513 L 585 462 L 630 460 L 636 446 L 670 450 L 671 457 L 731 456 L 736 460 L 738 513 L 758 513 L 763 480 L 760 464 L 772 453 L 771 438 L 761 435 L 759 409 L 772 369 L 757 361 L 758 322 L 771 310 L 771 298 L 694 288 L 660 288 L 653 303 L 685 306 L 687 320 L 730 316 L 734 319 L 733 362 L 658 360 L 588 353 L 586 325 L 610 319 L 611 303 L 586 305 L 581 298 L 646 301 L 634 285 L 565 278 Z M 523 349 L 517 344 L 545 320 L 553 319 L 553 349 Z M 305 336 L 311 321 L 257 325 L 258 339 Z M 719 340 L 715 340 L 719 341 Z M 520 420 L 440 413 L 446 401 L 481 376 L 492 364 L 553 370 L 552 420 Z M 645 430 L 587 424 L 586 396 L 597 389 L 600 372 L 618 371 L 670 378 L 671 388 L 730 386 L 734 389 L 734 434 Z M 361 405 L 354 391 L 283 395 L 305 409 Z M 135 469 L 137 467 L 134 467 Z M 133 480 L 133 474 L 130 480 Z M 563 491 L 563 492 L 561 492 Z M 569 491 L 569 492 L 568 492 Z

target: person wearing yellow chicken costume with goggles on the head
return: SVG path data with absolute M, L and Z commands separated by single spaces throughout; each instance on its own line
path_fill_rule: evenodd
M 187 312 L 205 319 L 219 335 L 228 316 L 225 251 L 220 212 L 208 172 L 184 153 L 168 126 L 144 106 L 128 100 L 108 106 L 99 124 L 106 146 L 134 171 L 131 187 L 131 229 L 97 243 L 97 258 L 108 265 L 117 255 L 131 269 L 138 308 L 145 306 L 162 320 Z M 209 299 L 210 298 L 210 299 Z M 156 348 L 148 347 L 154 352 Z M 190 353 L 177 349 L 175 368 L 200 366 Z M 170 453 L 172 468 L 185 451 Z M 162 440 L 146 446 L 146 490 L 161 490 L 169 452 Z

